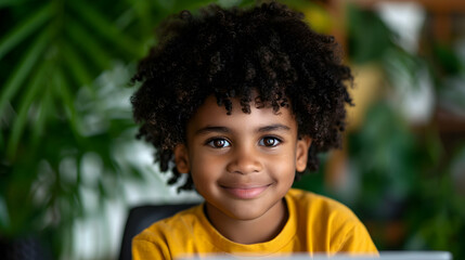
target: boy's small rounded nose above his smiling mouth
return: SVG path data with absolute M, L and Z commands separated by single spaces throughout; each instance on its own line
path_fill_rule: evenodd
M 229 172 L 248 174 L 260 172 L 262 165 L 251 147 L 242 148 L 234 152 L 234 157 L 228 165 Z

